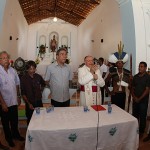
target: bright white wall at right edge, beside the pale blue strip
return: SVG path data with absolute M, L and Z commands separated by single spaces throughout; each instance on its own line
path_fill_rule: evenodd
M 140 61 L 150 68 L 150 0 L 132 0 L 136 35 L 136 72 Z

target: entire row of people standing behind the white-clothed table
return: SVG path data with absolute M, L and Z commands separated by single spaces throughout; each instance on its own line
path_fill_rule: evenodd
M 50 87 L 51 104 L 54 107 L 70 106 L 69 82 L 72 75 L 70 66 L 65 63 L 66 59 L 67 50 L 60 48 L 56 52 L 56 62 L 47 68 L 45 79 L 36 73 L 35 62 L 28 61 L 26 73 L 19 79 L 16 71 L 9 65 L 8 53 L 5 51 L 0 53 L 0 114 L 5 139 L 9 146 L 15 146 L 13 139 L 24 141 L 18 130 L 18 105 L 21 96 L 25 101 L 27 124 L 30 122 L 34 108 L 43 106 L 42 91 L 45 85 Z M 78 69 L 80 105 L 103 104 L 105 88 L 111 95 L 111 102 L 125 109 L 125 89 L 132 85 L 133 116 L 139 120 L 139 132 L 142 134 L 146 127 L 150 76 L 146 72 L 147 64 L 140 62 L 139 73 L 132 77 L 130 71 L 123 68 L 127 59 L 128 55 L 125 52 L 112 54 L 109 62 L 115 64 L 115 67 L 110 67 L 107 73 L 104 59 L 100 58 L 99 68 L 94 64 L 92 56 L 86 56 L 84 65 Z M 108 88 L 110 80 L 112 91 Z

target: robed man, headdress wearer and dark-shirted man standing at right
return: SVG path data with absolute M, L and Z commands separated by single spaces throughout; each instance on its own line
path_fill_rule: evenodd
M 101 58 L 100 60 L 100 66 L 102 66 L 103 59 Z M 142 61 L 139 63 L 139 72 L 132 76 L 129 70 L 123 68 L 127 60 L 127 53 L 115 52 L 110 55 L 108 60 L 109 63 L 113 64 L 109 68 L 109 73 L 105 73 L 105 71 L 103 73 L 103 71 L 100 71 L 100 68 L 94 64 L 93 57 L 86 56 L 84 66 L 78 70 L 78 81 L 81 85 L 80 105 L 103 104 L 104 99 L 101 92 L 103 93 L 103 88 L 105 88 L 111 96 L 112 104 L 116 104 L 125 110 L 126 89 L 128 88 L 132 95 L 132 115 L 136 117 L 139 122 L 139 134 L 141 137 L 146 128 L 150 75 L 147 73 L 146 62 Z M 111 91 L 108 88 L 110 81 L 112 82 Z M 150 132 L 143 141 L 148 140 L 150 140 Z

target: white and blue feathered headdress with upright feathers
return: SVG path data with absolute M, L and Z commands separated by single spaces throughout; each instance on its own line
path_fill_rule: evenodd
M 123 52 L 124 44 L 120 41 L 118 44 L 118 52 L 115 52 L 111 54 L 108 58 L 108 61 L 111 63 L 116 63 L 117 61 L 123 61 L 123 63 L 126 63 L 128 61 L 128 54 L 126 52 Z

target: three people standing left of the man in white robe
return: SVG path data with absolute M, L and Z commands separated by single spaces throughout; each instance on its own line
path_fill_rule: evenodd
M 0 114 L 5 139 L 10 147 L 15 146 L 13 139 L 24 141 L 18 130 L 18 105 L 21 103 L 21 96 L 25 101 L 27 124 L 34 109 L 43 106 L 42 91 L 46 84 L 50 86 L 51 104 L 54 107 L 70 106 L 71 69 L 65 64 L 66 59 L 66 49 L 59 49 L 56 52 L 57 61 L 47 68 L 45 81 L 36 73 L 35 62 L 30 60 L 26 64 L 26 73 L 19 79 L 17 72 L 9 64 L 8 53 L 0 53 Z

